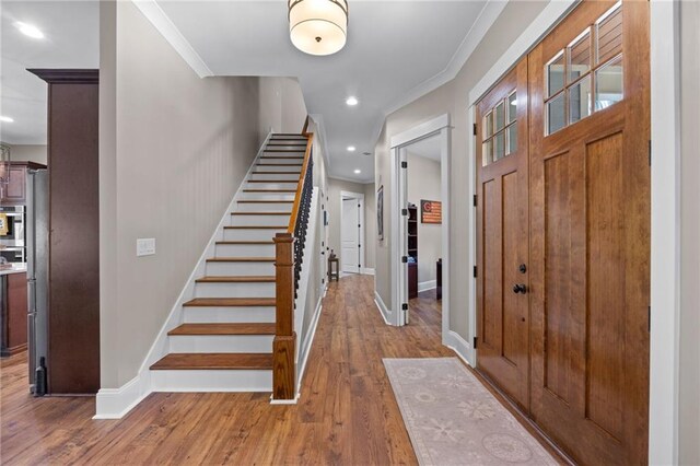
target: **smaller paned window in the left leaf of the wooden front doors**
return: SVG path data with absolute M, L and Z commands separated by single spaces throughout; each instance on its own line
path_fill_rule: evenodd
M 511 92 L 483 117 L 481 164 L 497 162 L 517 151 L 517 93 Z

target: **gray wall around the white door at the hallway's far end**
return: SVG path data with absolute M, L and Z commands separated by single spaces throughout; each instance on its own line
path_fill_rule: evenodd
M 336 255 L 342 264 L 341 253 L 341 211 L 340 211 L 340 193 L 358 193 L 364 194 L 364 244 L 376 242 L 376 200 L 374 197 L 368 198 L 368 191 L 373 190 L 374 185 L 364 185 L 360 183 L 346 182 L 343 179 L 328 178 L 328 213 L 330 215 L 329 221 L 329 235 L 328 244 L 330 248 L 335 251 Z M 372 245 L 374 246 L 374 245 Z M 364 247 L 364 267 L 374 268 L 374 248 Z

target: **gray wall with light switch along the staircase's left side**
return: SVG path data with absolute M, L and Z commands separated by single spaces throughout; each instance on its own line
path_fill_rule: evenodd
M 133 3 L 101 8 L 101 360 L 103 388 L 116 388 L 137 375 L 247 173 L 267 131 L 261 103 L 283 114 L 293 97 L 257 78 L 200 79 Z M 305 112 L 296 105 L 289 115 Z M 155 237 L 155 256 L 136 257 L 139 237 Z

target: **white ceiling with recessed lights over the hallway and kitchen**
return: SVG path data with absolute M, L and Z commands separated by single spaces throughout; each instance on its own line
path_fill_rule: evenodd
M 313 57 L 291 44 L 283 0 L 141 3 L 160 10 L 202 75 L 298 77 L 310 114 L 323 123 L 329 174 L 361 183 L 374 179 L 372 152 L 385 116 L 454 77 L 470 51 L 465 45 L 475 46 L 468 43 L 477 19 L 493 16 L 485 14 L 486 0 L 350 0 L 346 48 Z M 22 35 L 15 21 L 37 25 L 46 38 Z M 14 123 L 0 126 L 0 139 L 46 143 L 46 86 L 24 69 L 96 68 L 98 27 L 94 1 L 2 2 L 0 114 Z M 358 106 L 346 105 L 350 95 Z

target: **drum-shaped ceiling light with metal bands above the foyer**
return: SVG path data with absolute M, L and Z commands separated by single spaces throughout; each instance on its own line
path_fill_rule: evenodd
M 308 55 L 332 55 L 348 39 L 347 0 L 288 0 L 289 35 Z

